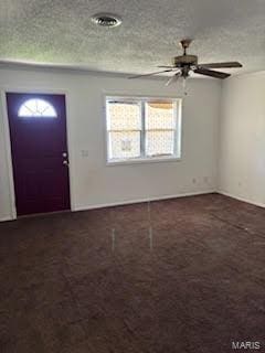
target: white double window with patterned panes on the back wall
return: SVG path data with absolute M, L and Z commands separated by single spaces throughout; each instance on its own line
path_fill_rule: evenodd
M 107 160 L 180 158 L 181 100 L 106 98 Z

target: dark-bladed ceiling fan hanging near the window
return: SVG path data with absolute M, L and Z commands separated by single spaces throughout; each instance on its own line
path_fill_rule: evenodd
M 187 54 L 187 49 L 190 46 L 192 40 L 186 39 L 180 41 L 180 45 L 183 50 L 183 54 L 180 56 L 174 56 L 172 58 L 172 65 L 169 66 L 158 66 L 160 68 L 165 68 L 162 71 L 158 71 L 150 74 L 144 74 L 144 75 L 134 75 L 128 78 L 138 78 L 144 76 L 152 76 L 158 75 L 162 73 L 173 73 L 173 76 L 171 76 L 168 82 L 166 83 L 166 86 L 169 86 L 170 84 L 178 81 L 179 77 L 183 77 L 184 82 L 186 78 L 190 76 L 190 73 L 193 72 L 195 74 L 211 76 L 214 78 L 221 78 L 224 79 L 229 77 L 231 74 L 213 71 L 210 68 L 230 68 L 230 67 L 242 67 L 242 64 L 239 62 L 224 62 L 224 63 L 209 63 L 209 64 L 198 64 L 198 56 L 197 55 L 190 55 Z

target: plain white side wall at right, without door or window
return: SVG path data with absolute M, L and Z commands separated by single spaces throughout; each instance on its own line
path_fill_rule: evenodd
M 232 77 L 222 92 L 219 190 L 265 205 L 265 73 Z

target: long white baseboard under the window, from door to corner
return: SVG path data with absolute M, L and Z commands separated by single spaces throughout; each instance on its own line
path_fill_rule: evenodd
M 188 193 L 174 194 L 174 195 L 155 196 L 155 197 L 146 197 L 146 199 L 137 199 L 137 200 L 128 200 L 128 201 L 117 201 L 117 202 L 102 203 L 102 204 L 95 204 L 95 205 L 77 206 L 73 211 L 86 211 L 86 210 L 95 210 L 95 208 L 104 208 L 104 207 L 113 207 L 113 206 L 123 206 L 123 205 L 142 203 L 142 202 L 149 202 L 149 201 L 160 201 L 160 200 L 170 200 L 170 199 L 178 199 L 178 197 L 186 197 L 186 196 L 204 195 L 204 194 L 211 194 L 213 192 L 216 192 L 216 190 L 212 189 L 208 191 L 188 192 Z

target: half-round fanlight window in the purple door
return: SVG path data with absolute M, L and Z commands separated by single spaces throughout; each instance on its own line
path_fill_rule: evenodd
M 18 113 L 21 118 L 56 118 L 54 107 L 44 99 L 33 98 L 25 100 Z

